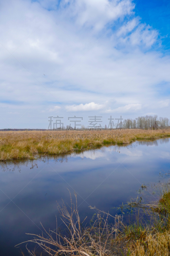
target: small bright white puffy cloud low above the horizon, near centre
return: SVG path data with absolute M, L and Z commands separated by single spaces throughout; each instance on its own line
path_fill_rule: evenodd
M 79 104 L 79 105 L 66 106 L 65 108 L 68 111 L 92 111 L 92 110 L 99 110 L 104 107 L 105 107 L 105 105 L 103 105 L 103 104 L 90 102 L 90 103 L 86 103 L 84 105 Z

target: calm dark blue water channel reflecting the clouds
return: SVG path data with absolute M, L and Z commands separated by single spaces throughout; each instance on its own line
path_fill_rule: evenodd
M 83 219 L 94 214 L 96 206 L 111 214 L 112 209 L 138 196 L 141 184 L 159 181 L 159 172 L 170 167 L 170 139 L 139 141 L 123 147 L 110 146 L 64 158 L 1 163 L 0 171 L 0 252 L 25 255 L 31 234 L 41 234 L 61 224 L 57 203 L 70 203 L 77 193 L 78 210 Z M 155 199 L 149 191 L 146 196 Z M 12 201 L 11 201 L 12 200 Z M 57 202 L 56 202 L 57 201 Z M 41 222 L 41 223 L 40 223 Z M 31 245 L 29 245 L 29 248 Z

